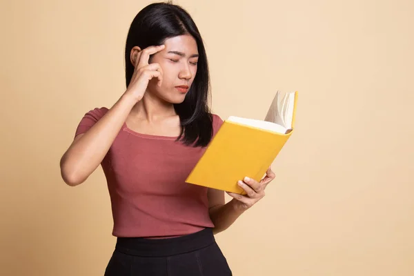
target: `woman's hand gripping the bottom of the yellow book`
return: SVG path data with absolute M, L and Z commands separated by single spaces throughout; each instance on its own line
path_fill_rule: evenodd
M 275 179 L 275 173 L 269 167 L 266 171 L 266 176 L 260 180 L 260 182 L 250 179 L 249 177 L 245 177 L 244 181 L 240 180 L 238 182 L 239 186 L 246 191 L 246 195 L 230 192 L 227 192 L 227 194 L 230 195 L 230 197 L 233 197 L 232 203 L 235 205 L 235 208 L 244 211 L 264 197 L 264 189 L 273 179 Z

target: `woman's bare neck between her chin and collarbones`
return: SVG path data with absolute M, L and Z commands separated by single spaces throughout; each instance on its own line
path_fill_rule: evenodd
M 146 92 L 141 101 L 138 101 L 131 110 L 131 115 L 136 118 L 144 119 L 148 122 L 157 121 L 166 117 L 177 115 L 174 105 L 159 97 L 155 97 Z

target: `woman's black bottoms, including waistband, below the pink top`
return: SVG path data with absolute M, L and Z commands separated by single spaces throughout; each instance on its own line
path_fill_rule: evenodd
M 104 276 L 233 275 L 211 228 L 168 239 L 118 237 Z

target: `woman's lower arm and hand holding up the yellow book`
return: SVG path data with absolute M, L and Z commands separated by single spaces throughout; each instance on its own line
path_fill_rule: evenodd
M 225 204 L 224 191 L 209 189 L 209 213 L 215 225 L 213 233 L 217 234 L 226 230 L 244 211 L 262 199 L 264 197 L 264 189 L 273 179 L 275 179 L 275 173 L 270 167 L 266 171 L 266 176 L 259 182 L 245 177 L 244 181 L 240 180 L 238 184 L 246 191 L 246 195 L 228 193 L 233 199 L 228 201 L 227 204 Z

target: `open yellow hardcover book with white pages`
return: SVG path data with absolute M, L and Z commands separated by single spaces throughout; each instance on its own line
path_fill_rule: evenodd
M 297 92 L 277 92 L 264 120 L 230 116 L 186 182 L 239 193 L 237 181 L 260 181 L 293 133 Z

